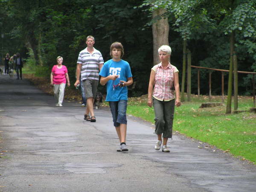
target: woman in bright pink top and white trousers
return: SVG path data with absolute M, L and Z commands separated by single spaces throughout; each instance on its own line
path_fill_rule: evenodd
M 63 58 L 58 56 L 57 65 L 52 67 L 51 73 L 51 85 L 53 85 L 54 98 L 58 107 L 62 107 L 66 82 L 67 86 L 70 86 L 67 67 L 62 65 L 62 62 Z

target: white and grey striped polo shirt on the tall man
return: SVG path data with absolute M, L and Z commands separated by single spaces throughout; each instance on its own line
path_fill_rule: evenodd
M 79 53 L 78 64 L 81 67 L 81 80 L 93 79 L 99 81 L 99 64 L 103 64 L 101 52 L 93 48 L 93 54 L 87 51 L 87 47 Z

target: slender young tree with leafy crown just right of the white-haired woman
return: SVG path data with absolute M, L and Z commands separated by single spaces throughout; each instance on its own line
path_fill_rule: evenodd
M 185 76 L 186 76 L 186 49 L 187 41 L 195 33 L 209 32 L 214 25 L 212 19 L 207 15 L 202 5 L 207 4 L 204 0 L 145 0 L 141 6 L 150 5 L 149 10 L 154 13 L 156 10 L 166 10 L 164 15 L 175 16 L 174 30 L 180 33 L 183 39 L 183 68 L 181 83 L 181 102 L 184 99 Z

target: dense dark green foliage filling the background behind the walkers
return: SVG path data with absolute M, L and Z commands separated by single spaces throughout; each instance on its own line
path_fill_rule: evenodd
M 120 41 L 136 81 L 130 93 L 141 95 L 147 93 L 153 65 L 151 24 L 157 19 L 151 19 L 151 12 L 158 8 L 167 10 L 163 16 L 170 24 L 171 61 L 180 72 L 184 39 L 192 65 L 229 69 L 232 31 L 238 70 L 256 71 L 256 0 L 0 0 L 1 55 L 21 52 L 26 58 L 30 48 L 43 76 L 49 75 L 61 55 L 74 81 L 77 57 L 87 35 L 95 37 L 95 47 L 105 61 L 110 59 L 110 44 Z M 220 94 L 220 73 L 212 76 L 212 94 Z M 251 94 L 250 78 L 239 75 L 239 94 Z M 192 70 L 192 93 L 197 93 L 196 82 L 196 70 Z M 225 84 L 227 88 L 227 76 Z M 206 70 L 201 70 L 201 88 L 202 94 L 208 93 Z

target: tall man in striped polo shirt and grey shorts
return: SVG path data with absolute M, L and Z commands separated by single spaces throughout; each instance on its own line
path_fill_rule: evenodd
M 87 99 L 87 108 L 84 114 L 84 120 L 90 122 L 96 122 L 96 117 L 93 112 L 93 100 L 96 96 L 99 83 L 99 71 L 104 64 L 101 52 L 93 47 L 94 43 L 94 37 L 89 35 L 86 38 L 87 47 L 82 50 L 78 56 L 75 83 L 76 87 L 79 84 L 81 74 L 85 98 Z

